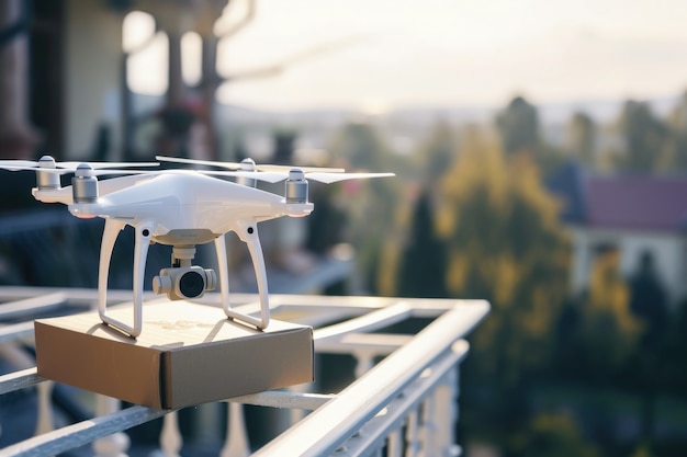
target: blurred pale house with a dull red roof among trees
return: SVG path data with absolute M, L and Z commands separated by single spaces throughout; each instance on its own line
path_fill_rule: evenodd
M 598 174 L 571 163 L 547 185 L 573 238 L 573 290 L 584 290 L 596 253 L 611 247 L 626 277 L 649 253 L 669 301 L 687 297 L 687 175 Z

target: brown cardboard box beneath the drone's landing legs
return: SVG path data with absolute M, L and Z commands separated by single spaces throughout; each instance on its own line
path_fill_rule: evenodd
M 126 321 L 133 308 L 108 315 Z M 36 320 L 38 376 L 157 409 L 313 380 L 309 327 L 270 320 L 260 331 L 188 301 L 146 305 L 143 321 L 133 340 L 97 312 Z

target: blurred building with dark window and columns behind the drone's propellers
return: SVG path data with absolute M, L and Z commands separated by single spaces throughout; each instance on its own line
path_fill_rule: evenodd
M 50 153 L 60 159 L 91 159 L 100 155 L 119 159 L 126 156 L 132 123 L 136 122 L 132 118 L 127 67 L 132 58 L 156 41 L 166 53 L 157 60 L 148 59 L 144 68 L 149 73 L 162 73 L 164 96 L 158 113 L 191 111 L 214 130 L 214 91 L 222 82 L 214 66 L 222 37 L 214 33 L 214 25 L 228 3 L 228 0 L 3 1 L 0 137 L 21 137 L 33 146 L 34 157 Z M 127 32 L 125 22 L 133 11 L 150 16 L 149 30 L 142 31 L 146 24 L 138 23 Z M 193 54 L 199 68 L 191 82 L 182 68 L 185 56 L 181 44 L 188 34 L 198 38 Z M 190 126 L 184 127 L 188 130 Z M 212 132 L 207 137 L 210 142 Z M 0 141 L 0 146 L 2 157 L 16 156 L 7 140 Z

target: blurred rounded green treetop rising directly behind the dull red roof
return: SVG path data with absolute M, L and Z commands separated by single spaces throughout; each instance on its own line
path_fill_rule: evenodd
M 652 171 L 661 168 L 665 160 L 667 128 L 647 103 L 627 101 L 618 119 L 618 130 L 624 141 L 624 150 L 618 158 L 621 169 Z

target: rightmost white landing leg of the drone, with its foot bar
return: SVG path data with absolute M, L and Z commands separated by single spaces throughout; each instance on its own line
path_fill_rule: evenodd
M 224 300 L 223 297 L 224 312 L 229 318 L 251 323 L 258 329 L 264 329 L 270 323 L 270 302 L 267 288 L 267 272 L 264 270 L 264 259 L 262 256 L 260 239 L 258 238 L 257 224 L 255 221 L 239 220 L 235 231 L 238 235 L 238 238 L 240 238 L 240 240 L 248 245 L 248 252 L 250 252 L 252 266 L 256 271 L 258 294 L 260 296 L 260 319 L 232 310 L 228 300 Z

